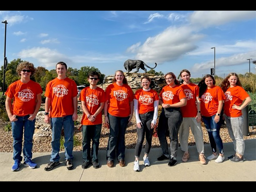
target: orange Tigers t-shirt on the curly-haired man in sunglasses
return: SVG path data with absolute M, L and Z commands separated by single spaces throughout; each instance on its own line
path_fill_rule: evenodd
M 42 94 L 41 86 L 30 80 L 28 83 L 22 83 L 20 80 L 10 84 L 5 95 L 13 98 L 12 114 L 17 116 L 26 116 L 35 112 L 37 95 Z

